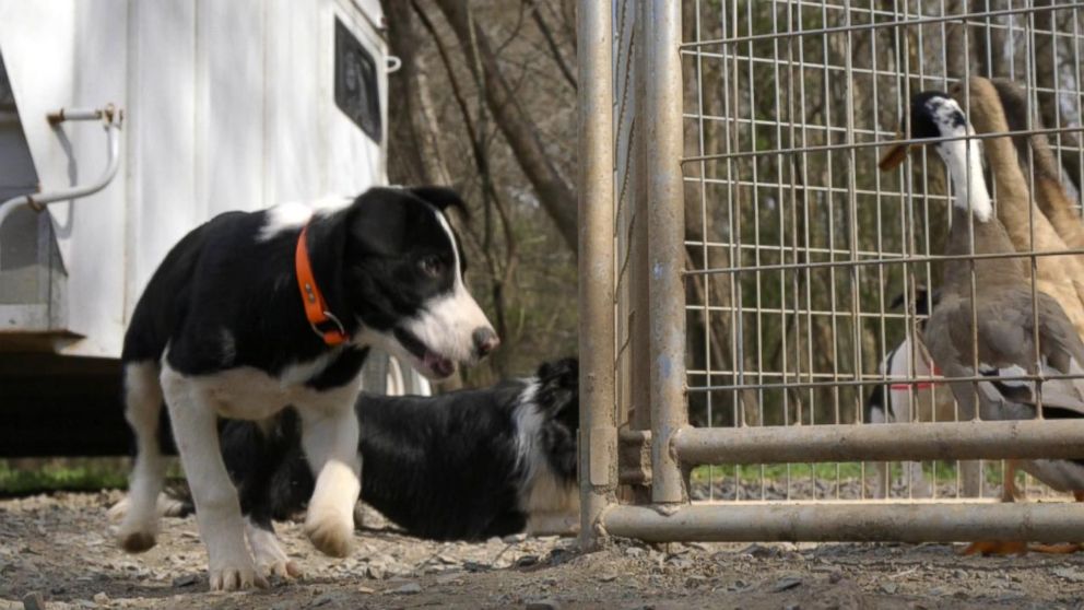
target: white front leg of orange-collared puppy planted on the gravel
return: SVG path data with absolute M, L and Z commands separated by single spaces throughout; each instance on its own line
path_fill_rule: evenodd
M 245 520 L 237 490 L 222 461 L 212 402 L 168 365 L 162 373 L 162 388 L 177 451 L 196 502 L 196 521 L 207 547 L 211 590 L 267 587 L 267 579 L 256 571 L 245 546 Z

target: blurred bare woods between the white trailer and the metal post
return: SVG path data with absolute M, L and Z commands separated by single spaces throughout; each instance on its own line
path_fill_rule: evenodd
M 574 355 L 575 1 L 382 4 L 402 59 L 388 95 L 390 180 L 464 195 L 468 283 L 502 339 L 458 382 L 486 385 Z

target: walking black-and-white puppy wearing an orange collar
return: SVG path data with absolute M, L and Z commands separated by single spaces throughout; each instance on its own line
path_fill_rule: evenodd
M 305 531 L 325 553 L 349 552 L 361 491 L 353 407 L 366 347 L 444 378 L 497 345 L 463 284 L 448 207 L 463 207 L 449 189 L 374 188 L 316 211 L 225 213 L 174 246 L 136 306 L 121 355 L 137 441 L 119 528 L 126 550 L 155 542 L 164 400 L 212 589 L 267 585 L 245 543 L 220 417 L 266 421 L 295 408 L 316 474 Z

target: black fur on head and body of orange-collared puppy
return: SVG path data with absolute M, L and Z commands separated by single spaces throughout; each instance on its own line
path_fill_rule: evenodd
M 450 290 L 452 250 L 432 208 L 462 207 L 448 189 L 374 188 L 349 207 L 315 214 L 307 244 L 329 309 L 353 333 L 391 330 L 425 301 Z M 158 362 L 186 375 L 251 366 L 276 376 L 328 350 L 305 318 L 294 273 L 301 227 L 259 238 L 269 211 L 227 212 L 186 235 L 140 298 L 121 359 Z M 437 278 L 420 262 L 444 265 Z M 462 256 L 460 256 L 462 258 Z M 224 341 L 224 332 L 229 340 Z M 317 388 L 353 379 L 364 354 L 345 348 Z

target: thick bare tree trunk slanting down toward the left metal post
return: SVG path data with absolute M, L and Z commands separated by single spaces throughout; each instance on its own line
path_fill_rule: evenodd
M 475 78 L 483 83 L 483 91 L 490 112 L 497 127 L 511 148 L 516 160 L 527 175 L 546 211 L 568 247 L 577 250 L 576 191 L 557 172 L 539 139 L 538 127 L 519 105 L 508 80 L 505 78 L 493 52 L 490 38 L 471 16 L 467 0 L 434 0 L 451 25 L 464 52 L 471 47 L 478 49 L 481 66 L 468 61 Z M 478 74 L 481 70 L 482 74 Z

